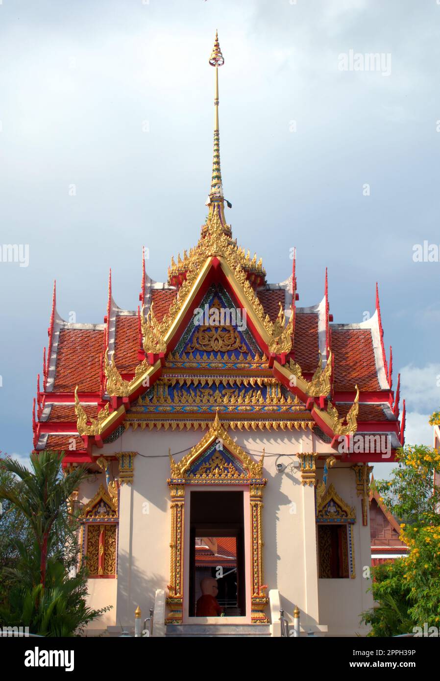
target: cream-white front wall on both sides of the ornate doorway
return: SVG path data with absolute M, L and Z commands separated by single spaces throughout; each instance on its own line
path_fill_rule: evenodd
M 172 454 L 188 450 L 205 432 L 129 428 L 99 452 L 103 456 L 121 451 L 138 452 L 134 458 L 133 485 L 121 486 L 118 577 L 116 580 L 89 580 L 89 583 L 104 582 L 103 586 L 93 585 L 89 603 L 93 607 L 116 605 L 107 614 L 114 618 L 112 623 L 132 626 L 138 605 L 144 618 L 154 603 L 155 590 L 161 588 L 168 592 L 171 518 L 168 447 Z M 329 633 L 334 634 L 353 635 L 355 631 L 362 631 L 360 612 L 373 603 L 371 595 L 365 594 L 371 582 L 362 577 L 362 567 L 371 564 L 370 535 L 369 526 L 362 526 L 362 509 L 360 497 L 356 496 L 353 471 L 330 469 L 328 482 L 334 484 L 345 502 L 356 506 L 356 524 L 353 526 L 356 579 L 318 580 L 314 490 L 312 486 L 302 486 L 295 455 L 301 450 L 330 454 L 328 445 L 304 431 L 228 432 L 255 460 L 260 458 L 263 447 L 266 450 L 264 477 L 268 484 L 264 489 L 262 511 L 264 584 L 268 589 L 279 590 L 281 605 L 289 618 L 298 605 L 306 628 L 316 629 L 315 625 L 321 624 L 327 625 Z M 178 454 L 175 459 L 180 460 L 186 453 Z M 277 471 L 277 463 L 282 464 L 283 472 Z M 112 466 L 116 477 L 116 462 Z M 322 478 L 322 471 L 318 471 L 318 477 Z M 104 475 L 99 478 L 99 482 L 105 484 Z M 86 490 L 91 498 L 98 486 L 98 481 L 95 488 L 93 484 L 86 484 L 82 492 Z M 305 514 L 304 504 L 308 509 Z M 112 584 L 105 584 L 108 582 Z M 109 599 L 113 600 L 109 602 Z

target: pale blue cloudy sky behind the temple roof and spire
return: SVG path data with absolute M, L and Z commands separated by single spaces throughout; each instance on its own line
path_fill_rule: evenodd
M 197 242 L 215 29 L 234 237 L 270 282 L 296 247 L 301 306 L 321 300 L 328 267 L 336 323 L 372 315 L 379 283 L 407 441 L 432 442 L 439 0 L 0 0 L 0 246 L 23 256 L 0 262 L 3 453 L 32 449 L 53 280 L 61 317 L 101 323 L 110 267 L 116 303 L 136 309 L 142 246 L 164 281 Z

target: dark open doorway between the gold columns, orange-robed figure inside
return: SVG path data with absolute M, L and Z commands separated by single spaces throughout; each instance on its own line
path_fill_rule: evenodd
M 245 616 L 243 492 L 191 491 L 189 535 L 189 616 Z

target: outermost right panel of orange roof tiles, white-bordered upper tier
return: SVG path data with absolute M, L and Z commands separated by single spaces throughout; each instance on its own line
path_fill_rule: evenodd
M 334 390 L 380 390 L 369 329 L 332 329 L 332 351 Z

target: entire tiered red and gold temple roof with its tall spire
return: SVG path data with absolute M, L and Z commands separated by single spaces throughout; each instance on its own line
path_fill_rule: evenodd
M 61 319 L 54 285 L 43 381 L 40 385 L 39 375 L 33 407 L 34 447 L 63 449 L 71 461 L 93 460 L 106 441 L 118 437 L 121 427 L 127 427 L 127 412 L 142 402 L 146 386 L 149 390 L 156 381 L 175 376 L 176 366 L 181 372 L 189 362 L 187 380 L 193 385 L 198 385 L 195 378 L 202 376 L 204 380 L 217 377 L 218 386 L 219 380 L 230 375 L 238 385 L 245 381 L 248 387 L 249 381 L 254 381 L 251 385 L 255 381 L 266 386 L 270 381 L 278 383 L 278 397 L 272 392 L 270 396 L 271 403 L 278 400 L 281 405 L 283 421 L 277 415 L 268 420 L 263 409 L 257 414 L 249 411 L 244 419 L 247 430 L 250 426 L 255 430 L 256 424 L 276 430 L 285 430 L 286 424 L 289 429 L 292 424 L 297 429 L 311 427 L 335 451 L 341 437 L 349 443 L 355 432 L 381 434 L 390 438 L 394 450 L 403 444 L 405 402 L 400 422 L 400 375 L 394 392 L 392 352 L 390 348 L 387 358 L 377 289 L 371 319 L 336 324 L 329 311 L 327 272 L 321 302 L 300 307 L 296 254 L 289 278 L 269 284 L 262 260 L 246 254 L 232 238 L 224 212 L 225 202 L 228 206 L 230 203 L 223 196 L 220 171 L 218 67 L 223 65 L 223 57 L 217 36 L 210 63 L 215 66 L 213 177 L 206 201 L 208 217 L 198 244 L 182 258 L 178 255 L 172 259 L 166 283 L 148 276 L 142 254 L 137 309 L 123 310 L 114 302 L 110 272 L 104 323 Z M 234 351 L 195 356 L 183 349 L 181 338 L 189 333 L 193 311 L 213 287 L 223 291 L 234 306 L 247 310 L 254 348 L 250 359 Z M 227 368 L 219 368 L 218 360 L 224 360 Z M 267 396 L 260 395 L 259 399 L 260 403 L 268 401 Z M 250 404 L 250 400 L 248 396 L 243 404 Z M 220 417 L 222 404 L 217 396 L 213 407 L 219 409 Z M 242 415 L 241 410 L 235 417 L 240 421 Z M 180 410 L 170 416 L 169 425 L 173 430 L 184 424 L 187 428 L 204 428 L 214 417 L 215 412 L 209 409 L 204 421 L 187 417 Z M 241 428 L 238 421 L 234 424 Z M 155 425 L 159 427 L 159 422 L 153 419 L 148 427 Z M 355 460 L 382 458 L 352 454 L 351 461 Z

